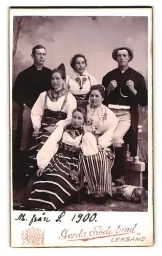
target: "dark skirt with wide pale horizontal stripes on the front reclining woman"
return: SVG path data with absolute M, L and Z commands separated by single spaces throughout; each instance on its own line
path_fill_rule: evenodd
M 76 173 L 79 179 L 77 179 Z M 35 177 L 32 192 L 21 207 L 40 210 L 57 210 L 81 188 L 79 160 L 72 152 L 57 153 Z

